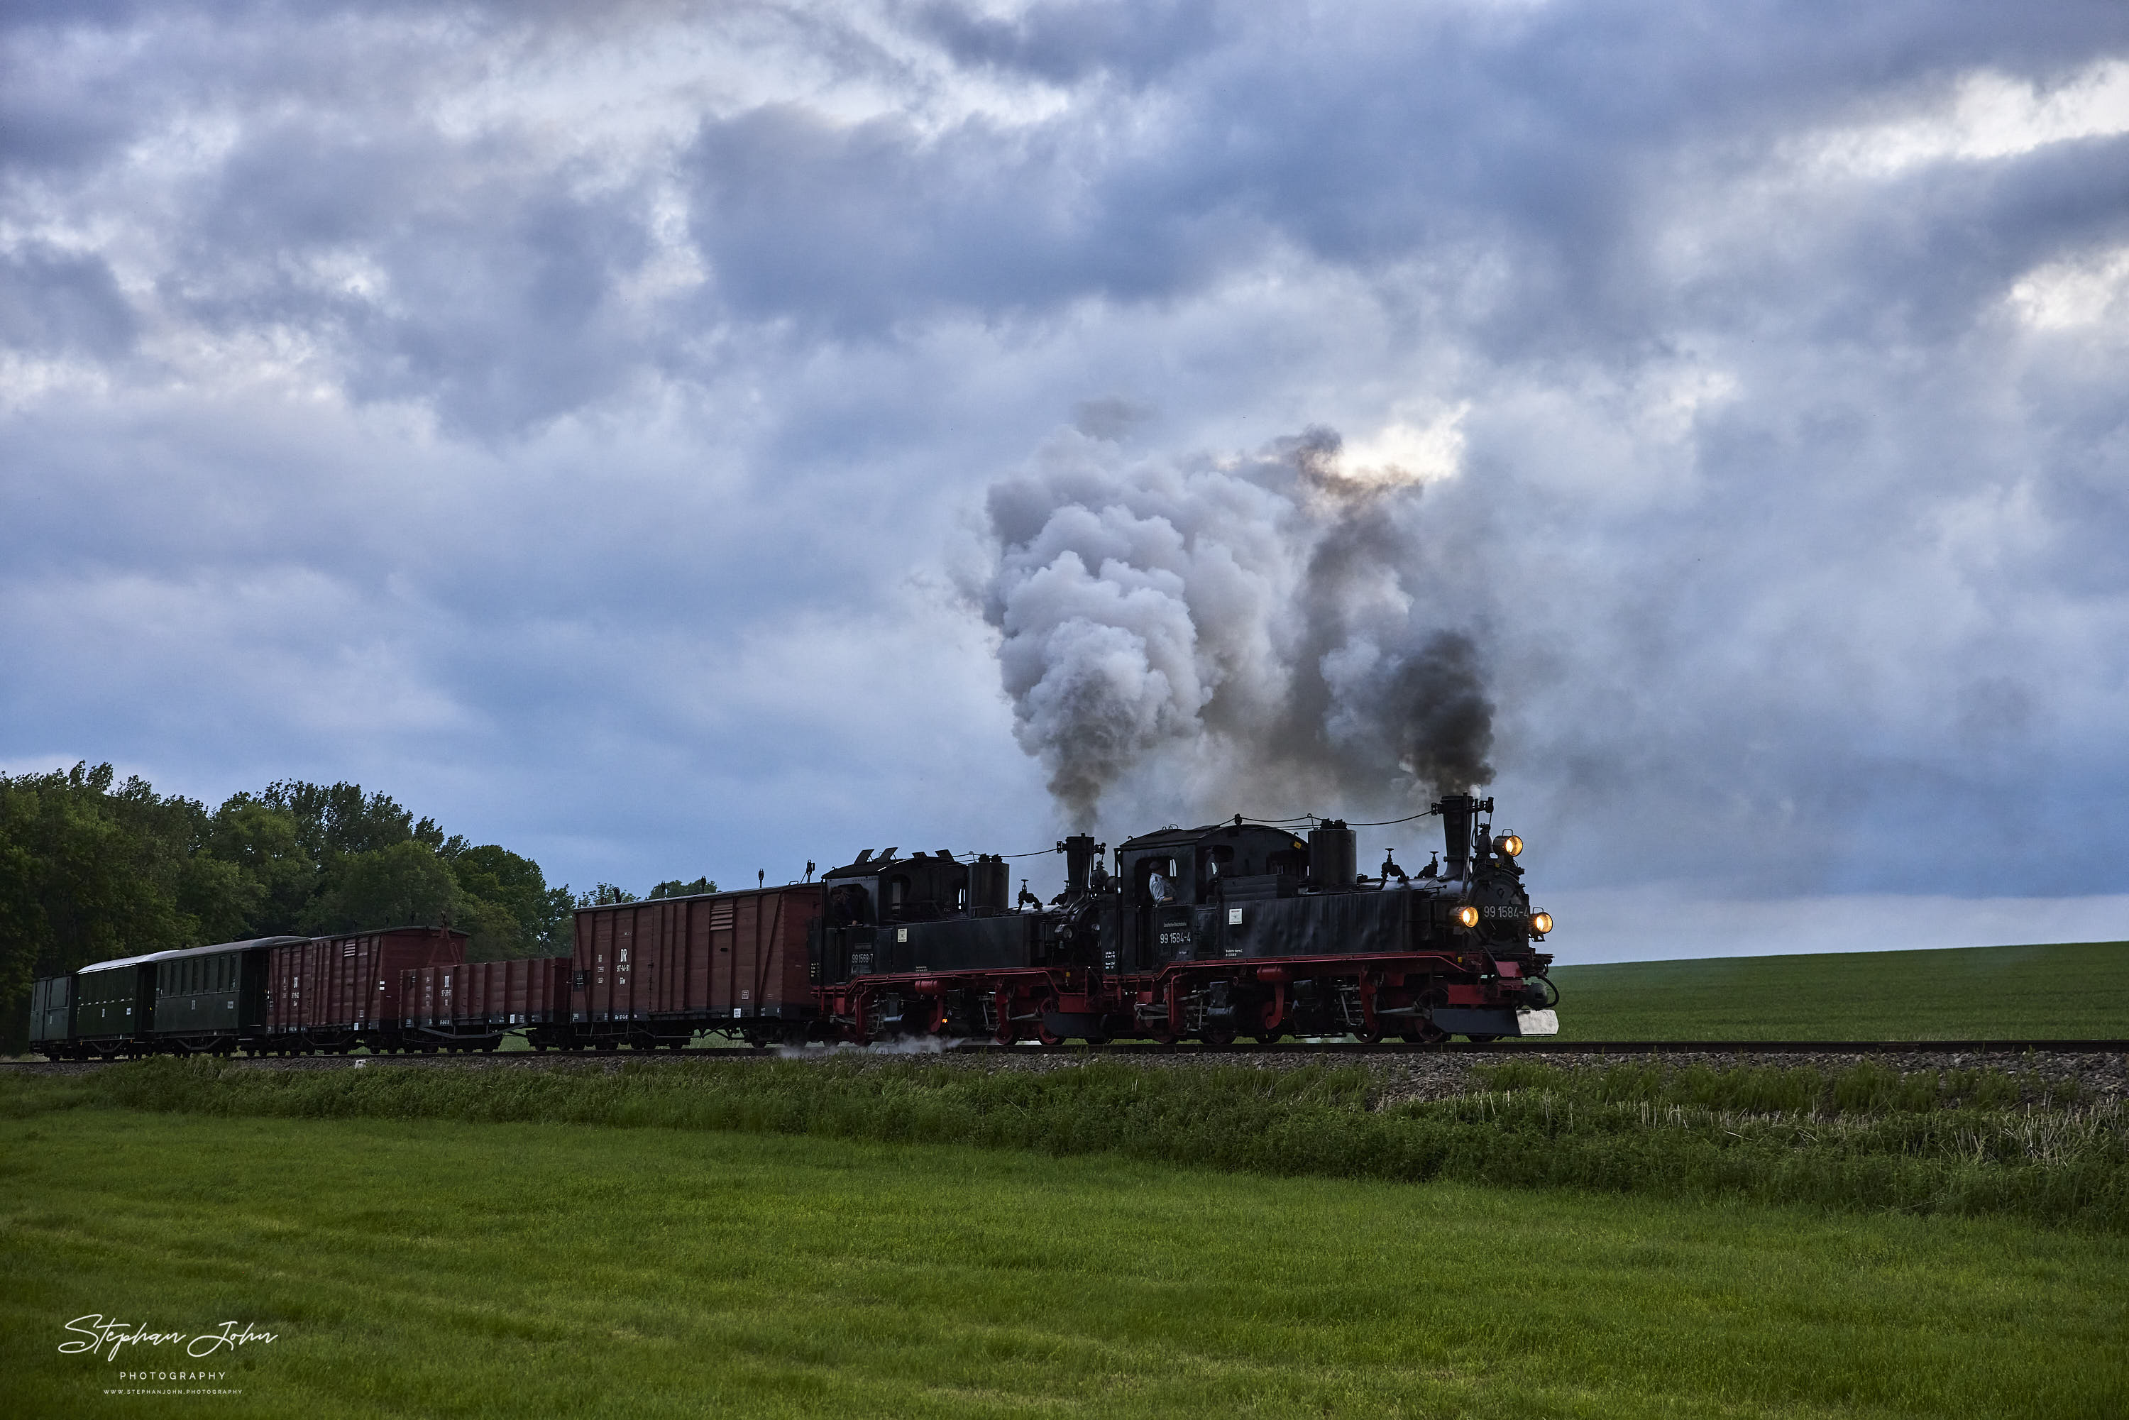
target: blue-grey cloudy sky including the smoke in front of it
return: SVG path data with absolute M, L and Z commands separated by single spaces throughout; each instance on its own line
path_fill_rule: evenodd
M 1448 666 L 1563 960 L 2129 935 L 2112 0 L 0 26 L 0 769 L 641 890 L 1397 818 Z

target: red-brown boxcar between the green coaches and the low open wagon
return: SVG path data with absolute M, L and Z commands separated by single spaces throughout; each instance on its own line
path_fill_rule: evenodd
M 466 932 L 396 926 L 275 947 L 266 962 L 266 1035 L 292 1050 L 396 1045 L 407 971 L 466 960 Z

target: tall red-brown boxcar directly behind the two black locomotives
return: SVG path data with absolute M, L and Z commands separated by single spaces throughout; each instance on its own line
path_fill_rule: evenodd
M 807 935 L 820 884 L 577 909 L 579 1035 L 686 1041 L 815 1016 Z

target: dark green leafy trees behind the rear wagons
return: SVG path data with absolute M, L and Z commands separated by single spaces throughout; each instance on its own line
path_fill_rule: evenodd
M 358 783 L 285 779 L 211 811 L 115 783 L 111 764 L 0 775 L 0 1050 L 26 1045 L 30 984 L 87 962 L 407 924 L 471 932 L 473 960 L 564 956 L 571 909 L 592 901 L 634 894 L 549 888 L 524 854 L 445 837 Z

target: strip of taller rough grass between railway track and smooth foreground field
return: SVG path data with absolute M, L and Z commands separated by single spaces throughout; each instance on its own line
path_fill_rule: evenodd
M 1382 1101 L 1356 1064 L 1145 1069 L 1058 1058 L 666 1060 L 258 1071 L 145 1060 L 9 1079 L 0 1109 L 596 1124 L 1111 1154 L 1256 1175 L 1565 1186 L 1835 1211 L 2016 1216 L 2129 1235 L 2129 1111 L 1988 1071 L 1480 1064 L 1465 1094 Z

